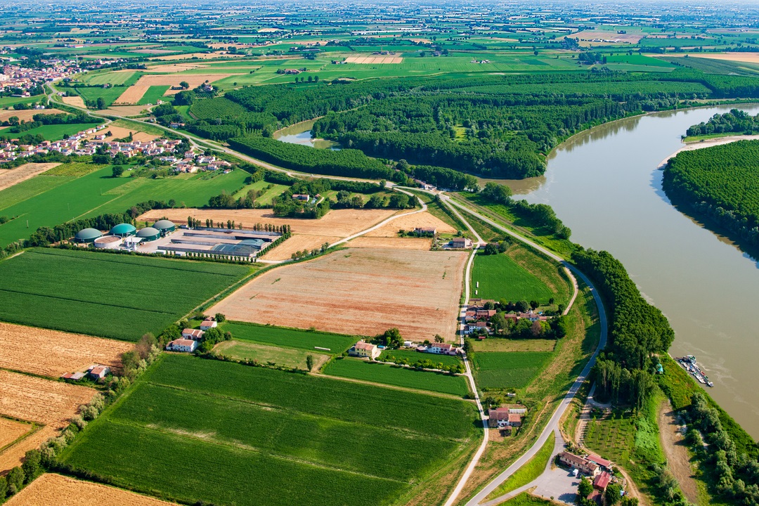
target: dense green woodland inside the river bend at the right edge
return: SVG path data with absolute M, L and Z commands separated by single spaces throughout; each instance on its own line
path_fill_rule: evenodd
M 674 203 L 759 247 L 759 141 L 679 152 L 663 187 Z

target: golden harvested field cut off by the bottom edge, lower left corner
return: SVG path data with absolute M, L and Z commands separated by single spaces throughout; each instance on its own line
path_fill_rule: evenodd
M 60 474 L 43 474 L 14 495 L 6 506 L 169 506 L 172 502 Z

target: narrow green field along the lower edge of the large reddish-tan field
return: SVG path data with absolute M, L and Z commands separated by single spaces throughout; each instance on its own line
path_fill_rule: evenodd
M 332 354 L 342 354 L 359 340 L 353 335 L 310 332 L 298 328 L 271 327 L 244 322 L 225 322 L 221 325 L 224 332 L 241 341 L 251 341 L 271 346 L 313 350 L 314 347 L 329 348 Z M 321 350 L 325 351 L 325 350 Z

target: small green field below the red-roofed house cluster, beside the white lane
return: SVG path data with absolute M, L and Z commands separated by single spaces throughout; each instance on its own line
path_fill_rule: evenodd
M 480 388 L 524 388 L 552 356 L 550 351 L 486 351 L 474 355 Z

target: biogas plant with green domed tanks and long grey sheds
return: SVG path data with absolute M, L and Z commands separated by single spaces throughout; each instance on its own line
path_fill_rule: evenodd
M 83 228 L 74 236 L 73 242 L 98 249 L 252 262 L 280 237 L 282 234 L 269 231 L 177 227 L 173 222 L 161 219 L 140 229 L 129 223 L 119 223 L 107 232 Z

